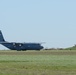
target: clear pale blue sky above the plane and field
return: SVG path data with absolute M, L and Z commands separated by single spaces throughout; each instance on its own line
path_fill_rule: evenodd
M 0 0 L 0 30 L 12 42 L 76 44 L 76 0 Z M 0 49 L 6 49 L 0 45 Z

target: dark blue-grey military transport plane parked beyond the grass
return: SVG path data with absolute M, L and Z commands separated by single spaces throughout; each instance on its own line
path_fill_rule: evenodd
M 2 32 L 0 30 L 0 44 L 7 47 L 11 50 L 17 51 L 26 51 L 26 50 L 41 50 L 44 47 L 41 46 L 41 43 L 16 43 L 16 42 L 7 42 L 4 40 Z

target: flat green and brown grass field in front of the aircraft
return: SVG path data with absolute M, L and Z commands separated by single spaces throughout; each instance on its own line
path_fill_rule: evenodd
M 76 51 L 0 51 L 0 75 L 76 75 Z

